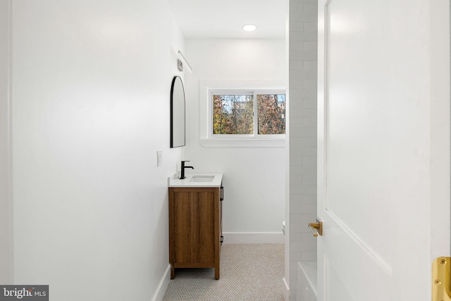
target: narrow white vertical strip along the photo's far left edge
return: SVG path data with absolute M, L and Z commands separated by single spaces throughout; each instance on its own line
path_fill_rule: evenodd
M 9 174 L 9 0 L 0 0 L 0 283 L 13 282 L 13 220 Z

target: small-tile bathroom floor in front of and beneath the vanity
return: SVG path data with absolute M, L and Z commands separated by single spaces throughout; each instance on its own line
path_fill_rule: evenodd
M 214 269 L 175 269 L 163 301 L 283 301 L 283 244 L 224 244 L 221 274 Z

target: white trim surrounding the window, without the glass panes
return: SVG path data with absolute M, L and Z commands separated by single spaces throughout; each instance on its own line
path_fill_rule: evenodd
M 283 80 L 200 80 L 200 144 L 203 147 L 285 147 L 285 135 L 213 135 L 213 106 L 210 102 L 211 91 L 281 92 L 286 91 L 283 84 Z M 287 96 L 285 102 L 288 101 Z

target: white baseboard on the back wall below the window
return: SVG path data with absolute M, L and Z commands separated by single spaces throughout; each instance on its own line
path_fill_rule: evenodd
M 224 243 L 285 243 L 282 232 L 223 232 Z

